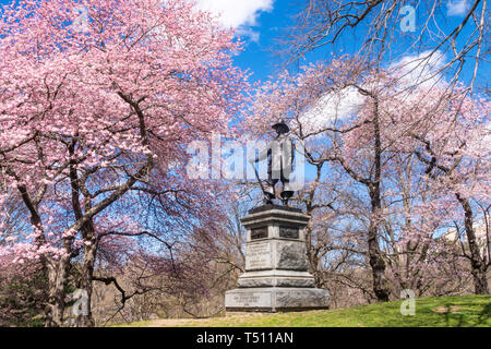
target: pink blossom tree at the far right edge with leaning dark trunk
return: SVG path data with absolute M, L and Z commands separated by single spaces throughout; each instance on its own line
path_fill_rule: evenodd
M 405 110 L 397 110 L 397 124 L 406 129 L 404 134 L 397 132 L 402 136 L 399 147 L 403 152 L 410 149 L 424 166 L 422 174 L 438 196 L 433 207 L 445 209 L 447 225 L 455 225 L 457 232 L 459 226 L 464 227 L 468 249 L 463 253 L 470 262 L 475 292 L 488 294 L 490 251 L 489 244 L 480 246 L 476 220 L 482 228 L 487 226 L 479 206 L 490 204 L 491 104 L 484 98 L 471 98 L 463 86 L 444 87 L 420 88 L 414 96 L 420 101 L 417 106 L 405 104 L 406 109 L 399 105 Z M 489 232 L 484 231 L 489 241 Z

